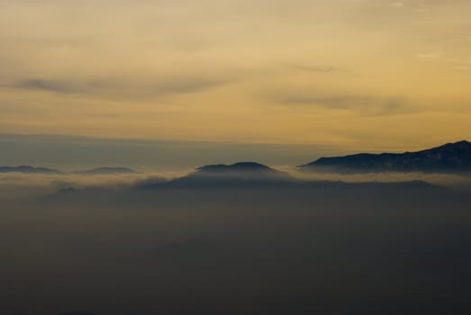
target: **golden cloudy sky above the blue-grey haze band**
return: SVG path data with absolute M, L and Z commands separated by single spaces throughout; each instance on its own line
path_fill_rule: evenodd
M 466 139 L 470 14 L 468 0 L 0 0 L 0 133 Z

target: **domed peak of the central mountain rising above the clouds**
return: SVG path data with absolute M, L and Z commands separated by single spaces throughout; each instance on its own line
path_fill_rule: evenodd
M 297 182 L 285 172 L 255 162 L 240 162 L 232 165 L 209 165 L 195 169 L 195 172 L 168 182 L 140 184 L 142 188 L 153 187 L 224 187 L 254 185 L 291 184 Z

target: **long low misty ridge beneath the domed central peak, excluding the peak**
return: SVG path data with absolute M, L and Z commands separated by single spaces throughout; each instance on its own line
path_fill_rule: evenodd
M 124 189 L 100 187 L 64 188 L 57 193 L 33 198 L 34 204 L 67 205 L 68 207 L 89 209 L 92 205 L 103 209 L 171 209 L 177 204 L 187 209 L 200 209 L 202 205 L 218 203 L 232 206 L 234 204 L 265 204 L 276 206 L 289 202 L 291 206 L 305 200 L 312 200 L 315 208 L 317 202 L 350 200 L 350 202 L 381 201 L 388 204 L 408 200 L 421 202 L 441 198 L 450 194 L 456 199 L 462 198 L 445 187 L 422 181 L 410 182 L 366 182 L 345 183 L 341 181 L 295 181 L 295 180 L 262 180 L 234 179 L 227 177 L 196 178 L 188 175 L 166 182 L 149 181 Z M 341 196 L 341 198 L 339 198 Z M 209 202 L 209 203 L 208 203 Z M 345 202 L 348 207 L 349 202 Z

